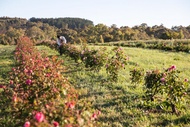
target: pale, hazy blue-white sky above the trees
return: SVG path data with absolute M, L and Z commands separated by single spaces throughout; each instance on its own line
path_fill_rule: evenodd
M 0 0 L 0 17 L 83 18 L 94 25 L 190 25 L 190 0 Z

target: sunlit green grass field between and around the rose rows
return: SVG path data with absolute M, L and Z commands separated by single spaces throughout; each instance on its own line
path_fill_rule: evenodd
M 48 55 L 58 55 L 55 50 L 46 46 L 38 46 Z M 93 47 L 99 48 L 99 47 Z M 107 49 L 112 49 L 108 46 Z M 125 70 L 119 73 L 119 81 L 109 82 L 105 69 L 100 72 L 90 71 L 83 64 L 75 63 L 69 57 L 59 56 L 63 59 L 66 71 L 63 76 L 79 91 L 79 101 L 86 105 L 99 109 L 102 115 L 98 121 L 105 127 L 147 127 L 147 126 L 190 126 L 190 104 L 186 101 L 187 108 L 181 111 L 180 116 L 170 112 L 155 112 L 148 110 L 142 105 L 144 102 L 143 85 L 130 83 L 130 70 L 138 65 L 145 70 L 166 69 L 176 65 L 181 71 L 180 77 L 189 79 L 190 76 L 190 54 L 182 52 L 165 52 L 160 50 L 148 50 L 141 48 L 123 48 L 129 56 L 129 63 Z M 0 83 L 8 83 L 8 72 L 14 66 L 14 46 L 0 45 Z

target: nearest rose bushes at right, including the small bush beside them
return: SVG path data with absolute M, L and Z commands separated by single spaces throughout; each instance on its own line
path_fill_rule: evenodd
M 130 71 L 131 82 L 143 84 L 148 104 L 154 103 L 160 109 L 171 110 L 177 115 L 180 114 L 179 109 L 186 107 L 189 87 L 188 79 L 181 79 L 179 73 L 175 65 L 163 71 L 156 69 L 145 73 L 140 67 Z

